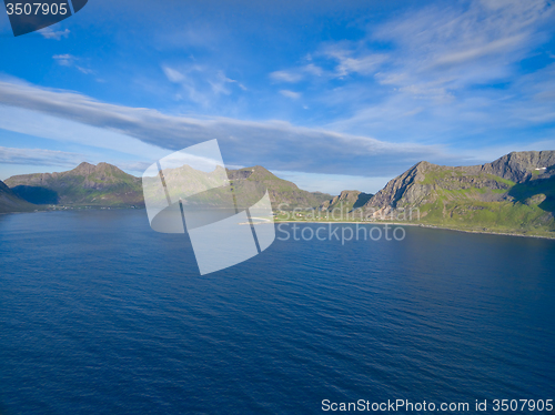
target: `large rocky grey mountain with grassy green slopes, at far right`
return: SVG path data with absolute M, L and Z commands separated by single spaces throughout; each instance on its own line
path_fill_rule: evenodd
M 395 220 L 411 219 L 411 210 L 425 224 L 554 236 L 555 151 L 513 152 L 472 166 L 420 162 L 359 212 Z

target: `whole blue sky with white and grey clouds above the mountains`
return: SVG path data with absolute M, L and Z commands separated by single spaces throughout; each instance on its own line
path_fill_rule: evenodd
M 0 13 L 0 180 L 218 139 L 336 194 L 555 150 L 552 0 L 89 0 L 18 38 Z

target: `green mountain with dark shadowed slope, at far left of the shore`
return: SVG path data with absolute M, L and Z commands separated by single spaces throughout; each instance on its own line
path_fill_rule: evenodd
M 34 204 L 143 205 L 141 179 L 114 165 L 81 163 L 62 173 L 14 175 L 6 181 L 21 199 Z

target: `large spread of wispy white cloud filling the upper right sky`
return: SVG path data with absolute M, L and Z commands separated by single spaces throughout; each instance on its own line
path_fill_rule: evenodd
M 366 78 L 305 98 L 345 105 L 343 117 L 326 124 L 336 131 L 450 146 L 477 136 L 478 148 L 501 138 L 516 143 L 524 129 L 553 122 L 553 65 L 523 70 L 521 62 L 541 55 L 537 48 L 553 39 L 554 10 L 545 0 L 412 10 L 370 27 L 359 42 L 312 53 L 313 61 L 335 60 L 335 74 L 363 69 L 357 73 Z M 532 139 L 528 133 L 525 140 Z

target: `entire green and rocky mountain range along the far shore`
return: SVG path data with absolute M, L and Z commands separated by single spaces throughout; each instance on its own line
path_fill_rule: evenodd
M 182 166 L 164 174 L 191 178 L 199 172 Z M 412 222 L 420 224 L 555 235 L 555 151 L 513 152 L 492 163 L 472 166 L 423 161 L 391 180 L 375 195 L 360 191 L 343 191 L 337 196 L 307 192 L 259 165 L 228 170 L 226 175 L 238 194 L 243 195 L 245 205 L 255 203 L 268 189 L 274 210 L 279 205 L 285 210 L 341 210 L 352 217 L 376 221 L 406 221 L 413 210 Z M 218 194 L 210 198 L 200 202 L 211 205 Z M 144 206 L 142 181 L 108 163 L 81 163 L 62 173 L 16 175 L 6 185 L 0 182 L 2 213 L 52 205 Z

